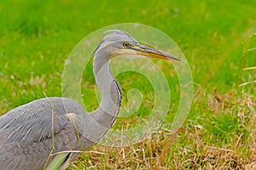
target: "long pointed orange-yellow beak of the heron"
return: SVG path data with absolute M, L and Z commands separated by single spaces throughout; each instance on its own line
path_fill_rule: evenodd
M 165 54 L 165 53 L 160 52 L 159 50 L 154 49 L 154 48 L 148 48 L 147 46 L 143 46 L 141 44 L 132 47 L 132 49 L 134 49 L 138 55 L 143 55 L 143 56 L 150 57 L 150 58 L 180 61 L 180 59 L 172 57 L 169 54 Z

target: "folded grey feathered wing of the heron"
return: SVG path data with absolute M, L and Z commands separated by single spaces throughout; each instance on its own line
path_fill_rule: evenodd
M 78 138 L 66 116 L 71 112 L 83 114 L 84 110 L 73 99 L 49 98 L 34 100 L 0 116 L 1 169 L 42 169 L 53 149 L 52 129 L 54 152 L 73 150 Z

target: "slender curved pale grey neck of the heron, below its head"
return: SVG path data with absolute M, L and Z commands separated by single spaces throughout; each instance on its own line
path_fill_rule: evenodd
M 96 54 L 93 62 L 96 85 L 102 91 L 102 102 L 91 115 L 103 127 L 111 127 L 119 114 L 121 91 L 111 74 L 108 56 Z

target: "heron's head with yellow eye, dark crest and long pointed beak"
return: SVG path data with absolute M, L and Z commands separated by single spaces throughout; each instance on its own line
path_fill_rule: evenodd
M 109 30 L 107 32 L 111 33 L 103 37 L 94 54 L 103 52 L 111 58 L 120 55 L 143 55 L 149 58 L 180 60 L 157 49 L 140 44 L 125 31 Z

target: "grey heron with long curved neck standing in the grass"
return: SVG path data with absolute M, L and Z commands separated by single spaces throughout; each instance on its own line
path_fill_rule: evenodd
M 96 85 L 102 91 L 98 109 L 87 113 L 73 99 L 50 97 L 3 114 L 0 116 L 0 169 L 43 169 L 57 156 L 49 156 L 51 151 L 87 150 L 99 142 L 112 127 L 121 103 L 121 90 L 111 74 L 109 60 L 127 54 L 179 60 L 141 45 L 125 31 L 110 31 L 93 54 Z M 65 169 L 78 155 L 67 152 L 58 168 Z

